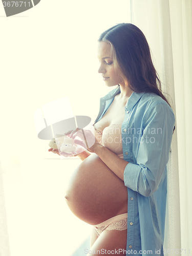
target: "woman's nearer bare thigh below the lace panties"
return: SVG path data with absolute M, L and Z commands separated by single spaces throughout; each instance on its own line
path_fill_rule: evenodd
M 102 254 L 102 255 L 109 255 L 109 254 L 118 254 L 119 256 L 126 255 L 126 236 L 127 236 L 127 229 L 125 230 L 104 230 L 98 238 L 96 238 L 96 234 L 91 238 L 91 243 L 93 245 L 90 249 L 90 255 L 95 254 Z M 123 253 L 124 250 L 124 253 Z M 92 253 L 91 253 L 92 251 Z

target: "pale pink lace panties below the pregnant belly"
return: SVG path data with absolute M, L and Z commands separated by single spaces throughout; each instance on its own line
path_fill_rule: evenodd
M 102 233 L 104 230 L 124 230 L 127 229 L 127 212 L 126 214 L 120 214 L 115 217 L 110 218 L 109 220 L 106 220 L 100 224 L 94 225 L 93 226 L 93 231 L 99 235 Z

